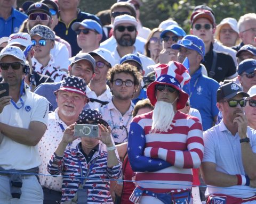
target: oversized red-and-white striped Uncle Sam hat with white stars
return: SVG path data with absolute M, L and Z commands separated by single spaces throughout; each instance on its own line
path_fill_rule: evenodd
M 185 66 L 179 62 L 171 61 L 169 64 L 159 64 L 155 68 L 156 80 L 149 84 L 147 96 L 150 103 L 154 106 L 157 99 L 155 94 L 156 84 L 165 84 L 179 91 L 177 100 L 177 109 L 185 107 L 188 100 L 188 94 L 182 90 L 182 87 L 190 80 L 190 75 Z

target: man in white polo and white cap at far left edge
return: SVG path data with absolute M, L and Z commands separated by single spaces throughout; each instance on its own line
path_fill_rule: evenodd
M 0 203 L 43 203 L 35 174 L 41 165 L 37 143 L 47 128 L 48 103 L 24 83 L 29 69 L 25 64 L 19 47 L 6 46 L 0 53 L 5 87 L 0 90 Z

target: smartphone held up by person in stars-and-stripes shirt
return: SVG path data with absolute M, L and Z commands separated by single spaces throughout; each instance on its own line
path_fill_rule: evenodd
M 98 138 L 99 127 L 98 125 L 76 124 L 74 129 L 74 135 L 76 137 Z

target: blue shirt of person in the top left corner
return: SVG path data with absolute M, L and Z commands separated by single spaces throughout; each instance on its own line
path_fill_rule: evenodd
M 9 37 L 12 33 L 19 32 L 20 25 L 28 18 L 26 14 L 12 8 L 12 13 L 8 19 L 0 16 L 0 38 Z

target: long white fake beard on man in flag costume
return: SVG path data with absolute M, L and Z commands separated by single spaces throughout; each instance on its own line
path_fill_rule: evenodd
M 175 113 L 171 103 L 167 103 L 165 101 L 157 101 L 153 111 L 153 123 L 151 132 L 167 132 L 167 130 L 170 128 L 174 115 Z

